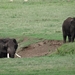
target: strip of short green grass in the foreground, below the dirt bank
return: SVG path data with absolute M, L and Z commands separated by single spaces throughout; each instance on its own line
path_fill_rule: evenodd
M 74 75 L 75 55 L 0 59 L 0 75 Z

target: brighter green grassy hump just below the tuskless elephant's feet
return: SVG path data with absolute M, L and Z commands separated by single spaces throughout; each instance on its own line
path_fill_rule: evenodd
M 75 43 L 66 43 L 57 49 L 60 55 L 75 54 Z

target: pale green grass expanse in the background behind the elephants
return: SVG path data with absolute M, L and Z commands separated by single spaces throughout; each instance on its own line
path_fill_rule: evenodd
M 75 15 L 74 0 L 0 0 L 0 37 L 62 40 L 63 21 Z

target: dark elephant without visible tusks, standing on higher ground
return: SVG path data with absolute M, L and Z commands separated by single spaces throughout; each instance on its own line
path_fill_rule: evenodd
M 75 17 L 74 18 L 68 17 L 63 22 L 62 32 L 63 32 L 64 43 L 66 42 L 67 36 L 68 36 L 69 42 L 74 42 L 74 38 L 75 38 Z

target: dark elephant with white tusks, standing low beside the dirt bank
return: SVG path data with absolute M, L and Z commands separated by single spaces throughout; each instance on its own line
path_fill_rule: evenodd
M 16 39 L 0 39 L 0 58 L 14 58 L 18 43 Z

